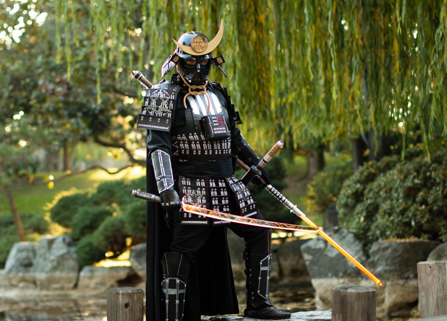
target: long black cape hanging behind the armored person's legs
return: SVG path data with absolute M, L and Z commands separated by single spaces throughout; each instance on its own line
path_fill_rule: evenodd
M 147 150 L 147 191 L 158 195 L 149 150 Z M 159 203 L 147 202 L 146 320 L 161 318 L 161 266 L 163 254 L 170 252 L 172 230 L 164 219 Z M 191 226 L 194 228 L 194 226 Z M 227 228 L 213 227 L 213 232 L 196 255 L 188 275 L 185 311 L 182 321 L 200 320 L 200 315 L 237 314 L 236 291 L 227 244 Z

